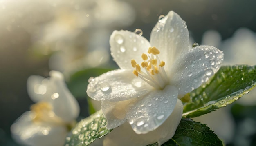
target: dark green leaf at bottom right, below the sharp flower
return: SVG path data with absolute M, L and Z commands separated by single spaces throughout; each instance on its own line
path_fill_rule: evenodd
M 205 124 L 182 118 L 173 138 L 162 146 L 222 146 L 222 142 Z

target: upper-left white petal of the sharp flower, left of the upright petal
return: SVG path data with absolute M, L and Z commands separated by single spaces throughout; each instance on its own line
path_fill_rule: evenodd
M 110 36 L 111 55 L 121 69 L 133 69 L 132 59 L 140 64 L 143 61 L 141 54 L 146 53 L 149 47 L 148 40 L 134 32 L 114 31 Z

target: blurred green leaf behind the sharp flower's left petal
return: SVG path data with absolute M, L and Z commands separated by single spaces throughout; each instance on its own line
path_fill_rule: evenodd
M 78 71 L 70 76 L 70 80 L 67 82 L 67 87 L 70 89 L 70 92 L 74 95 L 74 97 L 87 97 L 86 89 L 88 79 L 90 77 L 97 77 L 111 70 L 113 69 L 91 68 Z

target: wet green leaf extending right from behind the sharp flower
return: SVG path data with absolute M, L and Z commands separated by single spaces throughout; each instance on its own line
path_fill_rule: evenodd
M 255 82 L 256 66 L 222 66 L 209 81 L 190 93 L 183 116 L 198 117 L 227 106 L 249 93 Z

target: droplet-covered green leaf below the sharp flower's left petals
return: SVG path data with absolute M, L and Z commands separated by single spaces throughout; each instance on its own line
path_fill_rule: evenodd
M 106 129 L 107 119 L 104 117 L 102 110 L 82 119 L 72 129 L 66 138 L 66 144 L 69 146 L 88 146 L 96 139 L 107 135 L 112 130 Z

